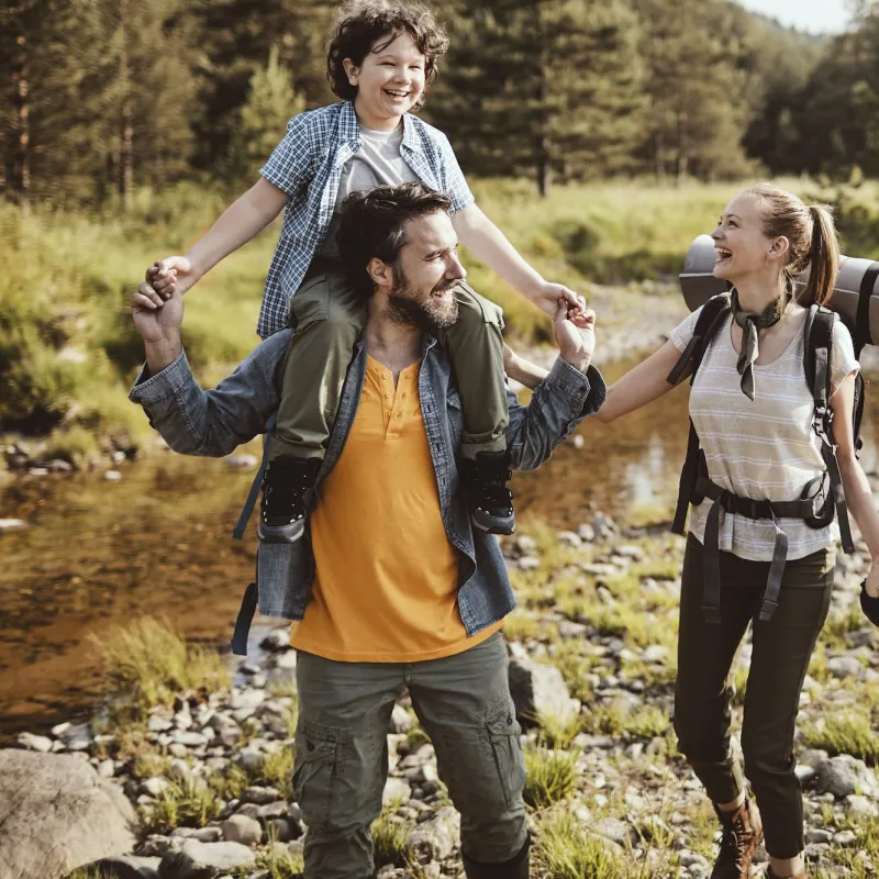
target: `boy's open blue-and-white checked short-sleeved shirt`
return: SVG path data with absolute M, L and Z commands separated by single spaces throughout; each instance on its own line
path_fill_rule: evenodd
M 260 174 L 290 200 L 266 277 L 256 332 L 267 338 L 287 325 L 290 299 L 323 245 L 333 219 L 342 167 L 360 148 L 360 127 L 351 101 L 310 110 L 290 120 L 287 135 Z M 418 116 L 403 116 L 403 160 L 431 189 L 452 198 L 452 211 L 474 203 L 474 196 L 448 138 Z

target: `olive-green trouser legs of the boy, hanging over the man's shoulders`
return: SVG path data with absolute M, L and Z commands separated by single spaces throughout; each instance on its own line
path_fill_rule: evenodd
M 457 322 L 438 334 L 461 398 L 461 454 L 503 452 L 509 421 L 501 310 L 461 282 Z M 318 263 L 290 302 L 293 336 L 283 374 L 269 459 L 323 458 L 354 347 L 366 323 L 366 300 L 340 268 Z

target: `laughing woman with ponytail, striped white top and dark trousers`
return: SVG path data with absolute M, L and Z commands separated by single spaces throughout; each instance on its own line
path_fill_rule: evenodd
M 833 291 L 839 258 L 833 220 L 826 209 L 806 207 L 790 192 L 763 185 L 730 203 L 712 237 L 714 275 L 728 280 L 734 291 L 732 313 L 708 345 L 690 393 L 690 415 L 706 476 L 727 496 L 798 501 L 825 470 L 812 426 L 803 329 L 809 307 L 823 304 Z M 793 279 L 806 269 L 805 288 L 794 286 Z M 610 388 L 597 415 L 600 421 L 611 422 L 672 388 L 666 377 L 691 341 L 699 311 Z M 838 321 L 832 351 L 837 459 L 848 510 L 872 558 L 866 593 L 876 597 L 879 515 L 852 436 L 859 366 L 848 331 Z M 513 377 L 519 377 L 516 371 Z M 764 831 L 769 876 L 800 879 L 805 865 L 794 720 L 830 607 L 838 526 L 832 522 L 816 528 L 814 522 L 810 525 L 802 519 L 775 523 L 722 513 L 719 532 L 716 520 L 713 532 L 720 543 L 720 622 L 709 622 L 711 614 L 703 613 L 703 553 L 711 507 L 712 500 L 706 499 L 690 508 L 675 693 L 679 748 L 705 786 L 723 826 L 712 879 L 749 877 Z M 787 559 L 778 604 L 767 620 L 760 611 L 777 549 L 776 524 L 787 535 Z M 742 769 L 730 749 L 732 666 L 748 623 L 754 643 L 742 749 L 760 812 L 747 797 Z

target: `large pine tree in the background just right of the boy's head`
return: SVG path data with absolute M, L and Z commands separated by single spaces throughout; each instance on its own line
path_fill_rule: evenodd
M 447 7 L 452 46 L 426 108 L 468 170 L 550 180 L 626 167 L 643 68 L 621 2 L 479 0 Z

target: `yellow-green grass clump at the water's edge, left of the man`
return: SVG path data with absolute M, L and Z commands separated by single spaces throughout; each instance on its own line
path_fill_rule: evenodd
M 102 637 L 93 637 L 100 661 L 135 716 L 170 704 L 181 691 L 211 692 L 230 686 L 223 658 L 194 647 L 170 624 L 144 616 Z

